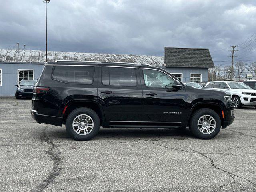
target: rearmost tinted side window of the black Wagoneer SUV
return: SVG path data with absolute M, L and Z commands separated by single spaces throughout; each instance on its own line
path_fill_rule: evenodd
M 54 80 L 71 84 L 92 84 L 93 66 L 55 66 L 52 75 Z

